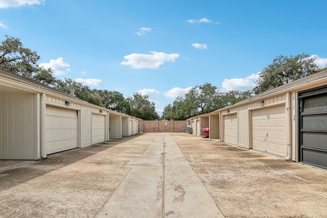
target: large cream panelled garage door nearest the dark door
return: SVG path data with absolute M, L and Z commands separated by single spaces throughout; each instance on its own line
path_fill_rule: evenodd
M 252 111 L 252 148 L 286 156 L 285 106 Z

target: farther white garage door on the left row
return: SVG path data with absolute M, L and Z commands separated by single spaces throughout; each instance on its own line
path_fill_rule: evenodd
M 104 141 L 105 134 L 105 116 L 92 113 L 91 123 L 91 141 L 92 144 L 96 144 Z

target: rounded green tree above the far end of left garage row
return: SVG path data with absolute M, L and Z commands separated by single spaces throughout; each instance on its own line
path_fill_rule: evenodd
M 128 97 L 130 111 L 127 114 L 144 120 L 159 119 L 159 115 L 155 112 L 155 104 L 149 101 L 149 95 L 142 95 L 136 92 L 133 97 Z

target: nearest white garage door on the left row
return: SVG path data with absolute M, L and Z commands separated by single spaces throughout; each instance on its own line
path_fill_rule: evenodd
M 45 153 L 53 154 L 77 148 L 76 110 L 46 105 Z

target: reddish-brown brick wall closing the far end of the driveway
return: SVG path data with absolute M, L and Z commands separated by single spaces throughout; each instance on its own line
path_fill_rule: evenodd
M 141 132 L 185 132 L 184 120 L 141 120 Z

